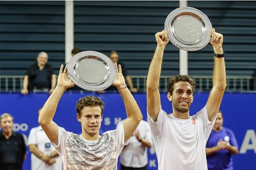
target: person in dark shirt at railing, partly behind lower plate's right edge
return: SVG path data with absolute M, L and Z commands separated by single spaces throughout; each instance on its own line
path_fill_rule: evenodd
M 133 81 L 131 80 L 131 77 L 128 75 L 127 70 L 125 68 L 125 65 L 121 62 L 119 62 L 119 56 L 118 53 L 116 51 L 112 51 L 109 54 L 109 58 L 115 63 L 117 63 L 117 65 L 121 65 L 122 66 L 122 74 L 125 77 L 126 83 L 127 85 L 130 87 L 130 91 L 133 93 L 137 92 L 137 88 L 133 87 Z M 109 88 L 107 88 L 106 90 L 117 90 L 117 88 L 110 86 Z M 105 91 L 98 91 L 98 93 L 104 93 Z

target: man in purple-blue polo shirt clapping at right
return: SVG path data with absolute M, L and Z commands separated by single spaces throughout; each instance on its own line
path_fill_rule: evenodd
M 232 130 L 224 128 L 223 114 L 218 111 L 212 133 L 207 141 L 206 155 L 208 169 L 233 169 L 231 155 L 238 154 L 236 137 Z

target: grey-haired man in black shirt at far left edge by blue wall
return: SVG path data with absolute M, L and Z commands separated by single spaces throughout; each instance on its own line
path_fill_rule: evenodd
M 0 116 L 0 169 L 22 169 L 26 159 L 26 144 L 23 135 L 13 131 L 13 120 L 9 113 Z

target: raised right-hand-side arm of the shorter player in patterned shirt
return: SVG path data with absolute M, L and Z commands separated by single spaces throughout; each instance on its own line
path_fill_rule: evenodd
M 135 101 L 133 95 L 128 90 L 125 79 L 122 75 L 121 65 L 115 63 L 115 70 L 117 71 L 117 76 L 113 83 L 113 86 L 117 87 L 119 94 L 122 96 L 123 103 L 125 103 L 125 110 L 127 118 L 123 121 L 123 129 L 125 130 L 125 142 L 133 135 L 135 129 L 139 125 L 139 122 L 142 120 L 141 110 L 137 102 Z

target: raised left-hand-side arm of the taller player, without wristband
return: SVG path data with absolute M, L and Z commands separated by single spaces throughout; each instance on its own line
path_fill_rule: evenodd
M 150 63 L 147 75 L 147 112 L 155 122 L 160 111 L 159 79 L 162 68 L 164 48 L 168 44 L 168 33 L 163 30 L 155 35 L 157 46 L 154 57 Z

